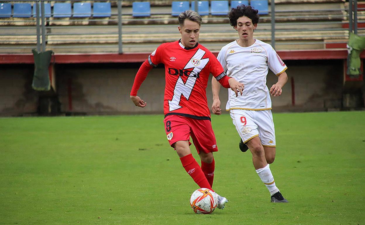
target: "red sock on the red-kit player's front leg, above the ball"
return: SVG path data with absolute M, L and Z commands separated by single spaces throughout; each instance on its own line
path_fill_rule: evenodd
M 210 185 L 210 182 L 207 181 L 207 178 L 205 178 L 205 175 L 203 171 L 201 170 L 199 164 L 196 162 L 192 154 L 185 155 L 184 157 L 180 158 L 181 164 L 183 164 L 183 167 L 188 172 L 188 174 L 193 178 L 195 183 L 199 187 L 205 187 L 208 189 L 212 189 L 212 186 Z M 209 164 L 208 164 L 209 165 Z M 214 170 L 214 166 L 213 166 Z M 212 178 L 213 183 L 213 178 Z

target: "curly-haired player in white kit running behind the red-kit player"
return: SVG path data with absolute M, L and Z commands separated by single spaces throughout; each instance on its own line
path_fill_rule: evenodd
M 268 188 L 271 202 L 288 202 L 276 187 L 269 164 L 276 154 L 275 129 L 271 113 L 271 96 L 280 96 L 281 88 L 288 81 L 287 66 L 270 44 L 254 39 L 257 28 L 258 10 L 251 6 L 238 5 L 229 13 L 231 26 L 238 31 L 239 38 L 224 46 L 218 60 L 229 77 L 245 85 L 242 96 L 236 97 L 228 89 L 226 110 L 230 112 L 241 142 L 241 151 L 250 149 L 255 170 Z M 266 86 L 269 69 L 278 81 L 270 90 Z M 220 84 L 212 79 L 215 115 L 221 115 L 219 100 Z

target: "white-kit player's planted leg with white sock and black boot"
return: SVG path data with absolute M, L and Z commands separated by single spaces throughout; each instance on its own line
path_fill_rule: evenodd
M 261 178 L 261 181 L 265 184 L 271 195 L 271 202 L 288 202 L 287 199 L 281 195 L 279 189 L 275 185 L 274 177 L 271 173 L 270 166 L 265 156 L 264 147 L 261 144 L 260 138 L 254 137 L 247 141 L 247 146 L 252 153 L 252 162 L 257 172 L 257 175 Z M 270 151 L 268 151 L 269 153 Z M 274 152 L 268 154 L 269 160 L 273 162 L 272 156 Z

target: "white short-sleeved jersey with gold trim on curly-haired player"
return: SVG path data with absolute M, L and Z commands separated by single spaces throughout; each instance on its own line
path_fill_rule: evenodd
M 287 68 L 270 44 L 255 39 L 249 47 L 242 47 L 233 41 L 224 46 L 218 60 L 229 77 L 245 85 L 242 96 L 228 89 L 226 110 L 268 110 L 271 109 L 266 76 L 269 69 L 279 75 Z

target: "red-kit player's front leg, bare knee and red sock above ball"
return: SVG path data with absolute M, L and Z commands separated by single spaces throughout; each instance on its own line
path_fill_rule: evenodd
M 193 178 L 195 183 L 199 187 L 212 189 L 207 178 L 205 178 L 201 167 L 191 154 L 189 141 L 176 141 L 176 143 L 173 144 L 173 147 L 175 148 L 177 155 L 180 157 L 181 164 L 183 164 L 185 171 L 191 176 L 191 178 Z

